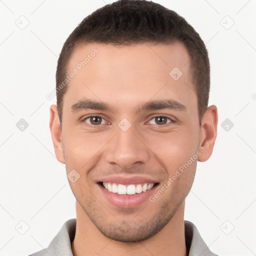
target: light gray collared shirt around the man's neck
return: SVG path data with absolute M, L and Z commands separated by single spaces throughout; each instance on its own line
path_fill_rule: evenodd
M 42 249 L 30 256 L 73 256 L 71 241 L 74 239 L 76 219 L 67 220 L 57 235 L 52 239 L 48 248 Z M 185 220 L 185 242 L 188 256 L 216 256 L 202 240 L 195 225 Z

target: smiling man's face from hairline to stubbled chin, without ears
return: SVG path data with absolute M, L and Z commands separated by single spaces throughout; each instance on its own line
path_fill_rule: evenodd
M 74 67 L 61 138 L 67 173 L 80 175 L 69 181 L 78 207 L 112 239 L 146 239 L 170 221 L 193 182 L 200 127 L 189 55 L 181 43 L 91 43 L 75 49 L 67 74 Z

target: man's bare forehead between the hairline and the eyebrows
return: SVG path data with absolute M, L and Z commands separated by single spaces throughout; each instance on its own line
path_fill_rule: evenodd
M 68 81 L 64 98 L 70 104 L 85 96 L 104 101 L 114 98 L 123 105 L 124 101 L 156 100 L 168 94 L 185 103 L 189 94 L 195 94 L 189 59 L 179 42 L 79 44 L 67 65 L 67 75 L 75 75 Z

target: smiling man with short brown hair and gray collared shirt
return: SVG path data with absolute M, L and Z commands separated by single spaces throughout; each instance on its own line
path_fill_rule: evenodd
M 122 0 L 84 18 L 61 50 L 50 107 L 76 219 L 32 255 L 215 255 L 184 221 L 216 137 L 209 83 L 205 45 L 174 11 Z

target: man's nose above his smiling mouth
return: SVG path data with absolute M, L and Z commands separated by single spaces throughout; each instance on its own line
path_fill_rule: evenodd
M 136 134 L 130 127 L 127 131 L 117 129 L 117 134 L 108 143 L 105 159 L 111 165 L 121 168 L 131 168 L 135 164 L 142 164 L 149 159 L 149 149 L 142 136 Z

